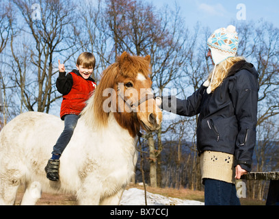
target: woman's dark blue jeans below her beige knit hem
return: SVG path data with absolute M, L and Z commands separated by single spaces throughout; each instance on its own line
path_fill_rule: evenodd
M 204 179 L 204 205 L 240 205 L 235 184 Z

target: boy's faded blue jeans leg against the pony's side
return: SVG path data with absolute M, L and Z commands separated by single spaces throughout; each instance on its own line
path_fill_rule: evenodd
M 64 116 L 64 130 L 59 136 L 55 146 L 53 146 L 52 154 L 61 155 L 66 149 L 66 146 L 70 142 L 70 138 L 72 138 L 72 134 L 74 133 L 75 127 L 77 126 L 77 120 L 79 116 L 74 114 L 68 114 Z

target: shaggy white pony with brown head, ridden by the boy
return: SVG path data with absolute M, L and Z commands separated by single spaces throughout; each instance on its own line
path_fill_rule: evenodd
M 140 126 L 154 131 L 161 125 L 161 110 L 150 98 L 149 73 L 150 55 L 126 52 L 104 70 L 60 158 L 59 181 L 49 181 L 44 166 L 64 122 L 26 112 L 5 125 L 0 133 L 0 204 L 14 204 L 23 184 L 21 205 L 36 204 L 41 192 L 75 194 L 80 205 L 118 205 L 134 174 Z

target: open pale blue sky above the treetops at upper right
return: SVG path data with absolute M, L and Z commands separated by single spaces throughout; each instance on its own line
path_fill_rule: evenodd
M 170 5 L 174 8 L 175 2 L 181 8 L 187 27 L 194 27 L 197 21 L 211 31 L 226 27 L 231 21 L 239 22 L 243 18 L 241 12 L 245 10 L 245 20 L 241 22 L 258 21 L 263 18 L 279 28 L 279 1 L 277 0 L 147 0 L 158 8 Z M 242 4 L 242 5 L 241 5 Z M 237 9 L 239 5 L 239 9 Z M 243 8 L 244 5 L 244 8 Z M 238 18 L 237 18 L 238 15 Z

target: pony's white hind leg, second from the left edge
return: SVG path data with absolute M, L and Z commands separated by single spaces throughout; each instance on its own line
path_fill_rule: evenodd
M 27 185 L 21 205 L 35 205 L 41 197 L 42 188 L 39 182 L 34 181 Z

